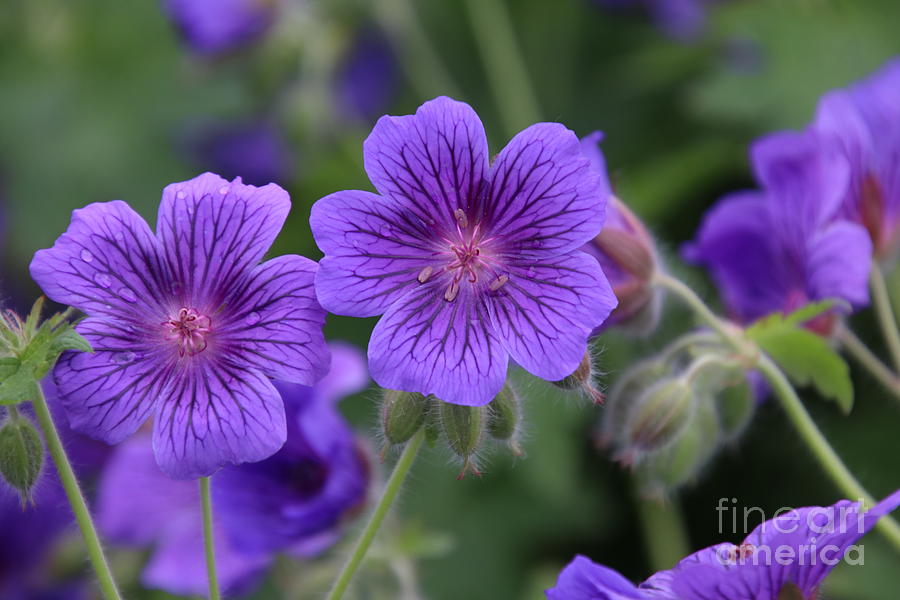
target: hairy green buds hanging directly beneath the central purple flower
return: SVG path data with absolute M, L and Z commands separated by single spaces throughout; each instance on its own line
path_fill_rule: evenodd
M 515 455 L 521 455 L 518 436 L 521 431 L 521 402 L 507 382 L 486 406 L 463 406 L 413 392 L 383 390 L 381 431 L 385 451 L 405 444 L 419 431 L 431 445 L 446 444 L 462 462 L 459 477 L 480 475 L 478 457 L 489 442 L 504 443 Z

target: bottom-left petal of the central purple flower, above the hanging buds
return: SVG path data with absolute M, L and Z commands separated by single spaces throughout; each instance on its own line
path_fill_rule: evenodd
M 445 288 L 429 281 L 388 309 L 372 332 L 369 369 L 388 389 L 481 406 L 503 387 L 507 355 L 474 288 L 460 287 L 451 302 Z

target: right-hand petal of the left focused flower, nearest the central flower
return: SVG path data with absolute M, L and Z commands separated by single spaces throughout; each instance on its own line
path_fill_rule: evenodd
M 325 310 L 313 284 L 316 267 L 302 256 L 279 256 L 258 265 L 230 292 L 230 314 L 218 333 L 235 363 L 305 385 L 328 371 Z

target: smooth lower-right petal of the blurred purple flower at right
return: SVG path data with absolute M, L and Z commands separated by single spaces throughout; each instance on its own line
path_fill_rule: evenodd
M 810 296 L 840 298 L 855 307 L 869 303 L 872 241 L 860 225 L 838 222 L 810 242 Z

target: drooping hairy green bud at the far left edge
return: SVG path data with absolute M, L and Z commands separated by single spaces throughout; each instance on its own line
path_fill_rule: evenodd
M 0 428 L 0 475 L 22 496 L 30 499 L 31 489 L 44 467 L 44 445 L 31 422 L 19 415 Z

